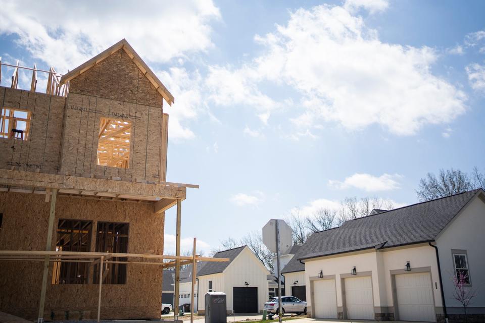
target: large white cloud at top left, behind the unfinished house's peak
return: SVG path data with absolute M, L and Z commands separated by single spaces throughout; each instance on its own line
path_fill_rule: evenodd
M 154 10 L 157 8 L 157 10 Z M 16 34 L 33 58 L 58 72 L 126 38 L 143 59 L 167 62 L 212 46 L 209 23 L 220 18 L 212 0 L 120 3 L 4 1 L 0 33 Z M 183 35 L 183 36 L 180 36 Z

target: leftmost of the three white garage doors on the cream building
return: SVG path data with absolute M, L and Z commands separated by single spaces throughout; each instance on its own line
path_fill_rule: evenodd
M 313 282 L 313 302 L 315 318 L 337 318 L 334 279 Z

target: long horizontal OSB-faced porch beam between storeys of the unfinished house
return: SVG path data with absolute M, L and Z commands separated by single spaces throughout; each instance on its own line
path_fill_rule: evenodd
M 185 198 L 186 188 L 149 183 L 132 183 L 100 178 L 64 176 L 0 169 L 0 184 L 112 192 L 170 198 Z

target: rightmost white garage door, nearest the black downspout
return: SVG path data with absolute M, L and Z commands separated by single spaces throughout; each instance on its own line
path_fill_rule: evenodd
M 400 320 L 436 320 L 429 273 L 396 275 L 396 294 Z

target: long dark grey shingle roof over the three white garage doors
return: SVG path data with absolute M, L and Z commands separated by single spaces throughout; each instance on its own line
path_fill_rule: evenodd
M 302 246 L 298 257 L 295 255 L 290 262 L 369 248 L 431 242 L 480 192 L 483 190 L 476 189 L 383 211 L 347 221 L 338 228 L 315 232 Z

